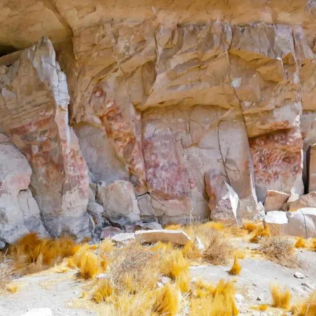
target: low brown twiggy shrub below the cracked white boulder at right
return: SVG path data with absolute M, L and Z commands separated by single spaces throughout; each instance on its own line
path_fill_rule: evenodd
M 259 251 L 269 260 L 286 267 L 301 266 L 301 261 L 294 255 L 292 242 L 281 235 L 260 238 Z

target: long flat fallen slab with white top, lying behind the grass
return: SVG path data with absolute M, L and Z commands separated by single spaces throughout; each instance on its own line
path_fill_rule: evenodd
M 172 242 L 176 245 L 186 245 L 191 238 L 182 230 L 154 229 L 137 230 L 135 232 L 136 241 L 153 243 L 157 241 Z

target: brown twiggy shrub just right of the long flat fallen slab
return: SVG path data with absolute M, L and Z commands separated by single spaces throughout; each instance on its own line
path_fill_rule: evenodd
M 207 236 L 208 244 L 203 252 L 204 260 L 214 265 L 228 264 L 234 250 L 232 244 L 216 229 L 208 229 Z

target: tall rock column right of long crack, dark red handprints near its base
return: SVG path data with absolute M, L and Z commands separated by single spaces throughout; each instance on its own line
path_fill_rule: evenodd
M 264 201 L 267 190 L 301 194 L 302 94 L 292 29 L 258 23 L 234 26 L 232 33 L 232 85 L 247 128 L 258 200 Z

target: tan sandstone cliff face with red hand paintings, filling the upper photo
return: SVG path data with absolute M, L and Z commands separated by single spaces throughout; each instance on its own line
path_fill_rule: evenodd
M 104 217 L 163 223 L 314 191 L 313 1 L 18 3 L 0 8 L 0 42 L 26 48 L 0 58 L 0 131 L 50 234 L 88 234 L 88 171 Z

